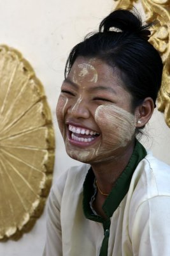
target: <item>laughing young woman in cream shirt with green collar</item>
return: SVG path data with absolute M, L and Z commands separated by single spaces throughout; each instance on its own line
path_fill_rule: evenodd
M 51 190 L 44 256 L 170 255 L 170 167 L 136 140 L 162 77 L 149 27 L 116 10 L 69 54 L 57 120 L 84 164 Z

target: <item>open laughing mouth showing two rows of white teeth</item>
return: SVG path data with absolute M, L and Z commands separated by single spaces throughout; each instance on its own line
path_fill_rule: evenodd
M 76 127 L 74 125 L 69 125 L 68 129 L 69 137 L 71 138 L 71 140 L 75 142 L 77 141 L 80 143 L 90 143 L 99 136 L 99 132 L 81 127 Z

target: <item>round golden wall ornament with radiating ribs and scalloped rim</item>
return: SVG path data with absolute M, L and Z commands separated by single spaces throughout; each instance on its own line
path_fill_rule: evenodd
M 54 132 L 43 85 L 22 54 L 0 45 L 0 240 L 41 215 L 52 181 Z

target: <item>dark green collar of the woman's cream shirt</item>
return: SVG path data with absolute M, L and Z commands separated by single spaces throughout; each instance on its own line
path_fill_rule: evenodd
M 141 145 L 141 143 L 136 140 L 136 145 L 132 152 L 129 163 L 125 167 L 124 172 L 122 172 L 120 177 L 118 177 L 115 186 L 113 187 L 110 195 L 106 198 L 103 204 L 103 211 L 106 216 L 108 216 L 108 218 L 111 218 L 113 212 L 115 212 L 118 205 L 120 205 L 120 202 L 127 194 L 134 170 L 138 166 L 139 162 L 146 156 L 146 154 L 147 153 L 143 145 Z M 101 216 L 95 215 L 90 208 L 90 200 L 92 198 L 92 195 L 94 195 L 94 179 L 94 172 L 92 168 L 90 168 L 83 184 L 83 211 L 87 219 L 98 221 L 104 224 L 106 220 L 104 220 L 104 218 Z

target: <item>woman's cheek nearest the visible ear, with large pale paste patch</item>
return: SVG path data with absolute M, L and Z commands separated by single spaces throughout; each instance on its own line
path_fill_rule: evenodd
M 112 105 L 99 106 L 96 109 L 95 119 L 108 149 L 125 147 L 136 129 L 134 115 Z

